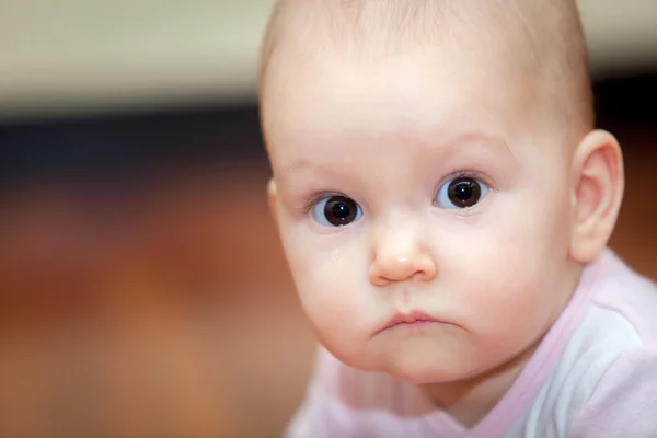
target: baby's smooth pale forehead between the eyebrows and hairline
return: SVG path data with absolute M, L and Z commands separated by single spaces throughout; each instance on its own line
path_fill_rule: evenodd
M 270 65 L 263 128 L 275 166 L 313 143 L 346 137 L 430 139 L 477 130 L 504 138 L 522 127 L 530 87 L 495 56 L 449 44 L 380 59 L 337 50 L 289 57 Z

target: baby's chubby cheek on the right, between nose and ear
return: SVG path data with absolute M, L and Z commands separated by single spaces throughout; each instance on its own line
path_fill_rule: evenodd
M 509 203 L 441 252 L 443 286 L 460 291 L 453 308 L 483 351 L 519 353 L 544 333 L 567 293 L 567 208 L 542 200 Z

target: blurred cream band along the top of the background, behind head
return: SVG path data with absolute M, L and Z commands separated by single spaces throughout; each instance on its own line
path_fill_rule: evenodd
M 598 77 L 657 67 L 657 0 L 580 0 Z M 273 0 L 0 0 L 0 118 L 253 100 Z

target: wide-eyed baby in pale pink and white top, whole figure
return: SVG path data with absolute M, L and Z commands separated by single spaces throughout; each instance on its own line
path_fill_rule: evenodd
M 657 290 L 574 0 L 283 0 L 270 203 L 321 348 L 291 437 L 655 437 Z

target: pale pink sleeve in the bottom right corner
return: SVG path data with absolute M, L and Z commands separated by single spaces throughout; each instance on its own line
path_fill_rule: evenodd
M 657 436 L 657 346 L 623 355 L 604 373 L 568 438 Z

